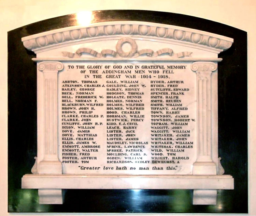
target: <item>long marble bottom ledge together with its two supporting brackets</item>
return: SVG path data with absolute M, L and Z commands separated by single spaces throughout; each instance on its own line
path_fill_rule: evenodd
M 217 189 L 233 189 L 229 175 L 27 174 L 22 188 L 38 189 L 40 204 L 62 204 L 62 189 L 194 189 L 194 205 L 214 205 Z

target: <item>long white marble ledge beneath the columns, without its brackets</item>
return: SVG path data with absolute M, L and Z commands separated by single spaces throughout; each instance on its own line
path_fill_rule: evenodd
M 22 188 L 34 189 L 233 189 L 229 175 L 47 175 L 26 174 Z

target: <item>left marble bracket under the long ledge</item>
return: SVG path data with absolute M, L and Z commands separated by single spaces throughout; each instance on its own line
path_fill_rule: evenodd
M 63 204 L 62 189 L 38 189 L 39 204 Z

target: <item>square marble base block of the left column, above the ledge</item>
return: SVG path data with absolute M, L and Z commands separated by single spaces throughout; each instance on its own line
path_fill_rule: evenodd
M 39 174 L 62 174 L 62 164 L 60 161 L 41 161 L 38 164 Z

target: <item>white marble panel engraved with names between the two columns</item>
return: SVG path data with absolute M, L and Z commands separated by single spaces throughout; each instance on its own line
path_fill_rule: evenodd
M 58 83 L 64 173 L 192 173 L 196 74 L 189 63 L 65 64 Z

